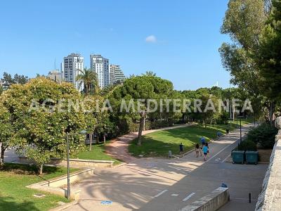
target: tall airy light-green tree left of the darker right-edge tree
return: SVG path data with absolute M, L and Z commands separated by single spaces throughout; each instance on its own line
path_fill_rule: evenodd
M 221 33 L 229 34 L 232 44 L 223 43 L 219 49 L 223 67 L 230 72 L 231 82 L 247 92 L 252 99 L 266 96 L 264 78 L 256 54 L 261 46 L 260 36 L 271 10 L 270 1 L 230 0 Z M 266 82 L 270 83 L 270 81 Z M 266 96 L 267 97 L 267 96 Z M 266 98 L 272 122 L 275 102 Z

